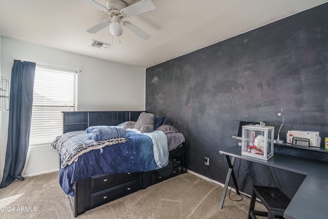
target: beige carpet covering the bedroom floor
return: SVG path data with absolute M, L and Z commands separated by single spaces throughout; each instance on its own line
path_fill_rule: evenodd
M 77 218 L 247 218 L 250 199 L 226 196 L 222 187 L 190 173 L 89 210 Z M 231 198 L 240 197 L 231 192 Z M 258 208 L 263 206 L 257 204 Z M 27 177 L 0 189 L 0 218 L 73 218 L 58 172 Z

